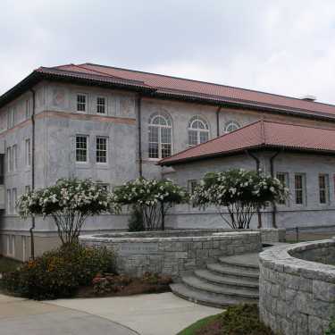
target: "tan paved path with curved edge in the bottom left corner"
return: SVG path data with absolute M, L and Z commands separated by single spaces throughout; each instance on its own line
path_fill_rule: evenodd
M 138 335 L 138 332 L 85 312 L 0 295 L 0 334 Z

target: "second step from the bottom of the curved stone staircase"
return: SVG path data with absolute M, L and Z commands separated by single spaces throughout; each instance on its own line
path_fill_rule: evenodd
M 207 281 L 202 281 L 195 276 L 182 277 L 182 282 L 191 289 L 199 289 L 208 294 L 222 296 L 222 298 L 232 297 L 240 300 L 241 298 L 258 299 L 258 292 L 251 289 L 233 289 L 222 285 L 213 284 Z

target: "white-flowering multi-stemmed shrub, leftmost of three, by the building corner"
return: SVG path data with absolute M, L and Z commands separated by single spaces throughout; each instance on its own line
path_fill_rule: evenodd
M 23 194 L 17 204 L 22 218 L 51 216 L 63 244 L 75 242 L 88 216 L 117 212 L 112 194 L 92 180 L 60 179 L 53 186 Z

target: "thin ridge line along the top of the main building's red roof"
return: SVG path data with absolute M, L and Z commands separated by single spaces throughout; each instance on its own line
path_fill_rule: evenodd
M 93 65 L 93 66 L 100 66 L 100 67 L 106 67 L 106 68 L 116 69 L 116 70 L 123 70 L 123 71 L 130 71 L 130 72 L 138 72 L 138 73 L 151 74 L 151 75 L 155 75 L 155 76 L 161 76 L 161 77 L 166 77 L 166 78 L 173 78 L 173 79 L 177 79 L 177 80 L 189 80 L 189 81 L 194 81 L 194 82 L 208 84 L 208 85 L 215 85 L 215 86 L 219 86 L 219 87 L 222 87 L 222 88 L 236 88 L 236 89 L 240 89 L 240 90 L 244 90 L 244 91 L 249 91 L 249 92 L 254 92 L 254 93 L 262 93 L 262 94 L 265 94 L 265 95 L 268 95 L 268 96 L 281 96 L 281 97 L 285 97 L 287 99 L 293 99 L 293 100 L 297 100 L 297 101 L 300 101 L 300 102 L 305 102 L 305 103 L 311 104 L 311 105 L 313 105 L 313 104 L 319 104 L 319 105 L 329 105 L 331 107 L 335 107 L 335 105 L 326 104 L 326 103 L 322 103 L 322 102 L 319 102 L 319 101 L 307 101 L 307 100 L 303 100 L 303 99 L 301 99 L 299 97 L 295 97 L 295 96 L 285 96 L 285 95 L 281 95 L 281 94 L 264 92 L 264 91 L 261 91 L 261 90 L 251 89 L 251 88 L 239 88 L 239 87 L 236 87 L 236 86 L 230 86 L 230 85 L 226 85 L 226 84 L 219 84 L 219 83 L 205 81 L 205 80 L 191 80 L 191 79 L 188 79 L 188 78 L 171 76 L 171 75 L 168 75 L 168 74 L 148 72 L 148 71 L 132 70 L 132 69 L 121 68 L 121 67 L 117 67 L 117 66 L 102 65 L 102 64 L 96 64 L 96 63 L 83 63 L 83 64 L 88 64 L 88 65 Z

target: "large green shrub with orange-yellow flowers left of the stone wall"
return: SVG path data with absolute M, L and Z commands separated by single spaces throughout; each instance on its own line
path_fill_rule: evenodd
M 48 251 L 4 274 L 3 287 L 33 299 L 71 297 L 91 284 L 98 272 L 114 271 L 113 252 L 71 245 Z

